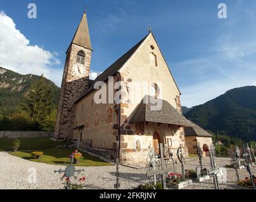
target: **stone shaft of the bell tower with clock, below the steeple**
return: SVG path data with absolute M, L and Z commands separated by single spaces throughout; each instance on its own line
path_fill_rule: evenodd
M 77 53 L 83 50 L 86 54 L 85 64 L 77 63 Z M 80 98 L 89 86 L 91 50 L 72 44 L 67 52 L 61 95 L 56 118 L 55 137 L 72 138 L 74 127 L 74 102 Z

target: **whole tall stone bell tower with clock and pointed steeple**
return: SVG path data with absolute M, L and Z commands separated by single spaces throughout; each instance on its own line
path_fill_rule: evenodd
M 91 40 L 86 11 L 66 52 L 54 138 L 72 139 L 74 102 L 89 86 Z

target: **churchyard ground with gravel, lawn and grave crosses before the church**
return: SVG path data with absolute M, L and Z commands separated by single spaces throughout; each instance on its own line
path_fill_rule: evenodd
M 150 148 L 148 163 L 136 169 L 47 141 L 51 149 L 0 152 L 0 189 L 255 189 L 255 155 L 248 145 L 242 153 L 231 148 L 232 157 L 224 158 L 215 157 L 214 147 L 203 157 L 198 144 L 197 156 L 186 157 L 181 147 L 172 153 L 160 143 L 159 153 Z

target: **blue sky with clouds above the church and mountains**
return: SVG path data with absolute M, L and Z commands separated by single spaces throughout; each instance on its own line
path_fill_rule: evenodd
M 29 3 L 37 5 L 37 19 L 27 17 Z M 226 3 L 227 19 L 217 17 L 219 3 Z M 182 105 L 203 104 L 231 88 L 256 85 L 254 0 L 0 0 L 0 11 L 8 16 L 4 19 L 16 25 L 11 32 L 15 29 L 14 36 L 19 31 L 23 42 L 29 40 L 22 47 L 29 47 L 28 52 L 35 49 L 36 57 L 42 54 L 36 64 L 30 54 L 32 61 L 26 59 L 22 66 L 18 61 L 3 62 L 9 57 L 6 47 L 0 66 L 20 73 L 44 73 L 60 86 L 65 51 L 85 6 L 94 50 L 92 72 L 107 68 L 141 40 L 151 25 L 181 90 Z M 1 37 L 0 30 L 1 45 L 8 44 L 5 36 Z

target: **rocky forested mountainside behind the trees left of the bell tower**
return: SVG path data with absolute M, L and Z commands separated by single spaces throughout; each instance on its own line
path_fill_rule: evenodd
M 40 76 L 33 74 L 22 75 L 0 67 L 0 115 L 11 116 L 11 114 L 15 113 L 30 86 L 35 81 L 38 81 L 39 78 Z M 50 80 L 46 79 L 46 83 L 53 91 L 54 97 L 52 101 L 57 105 L 60 88 Z

